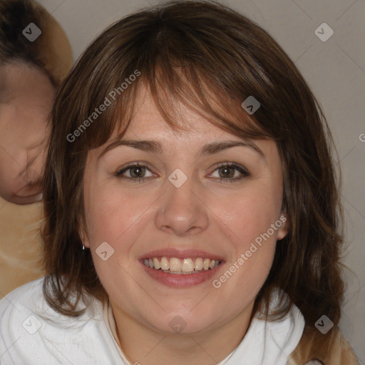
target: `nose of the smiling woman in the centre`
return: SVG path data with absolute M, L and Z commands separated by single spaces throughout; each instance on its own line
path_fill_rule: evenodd
M 209 225 L 209 210 L 200 186 L 192 178 L 187 178 L 180 187 L 170 180 L 166 180 L 166 185 L 155 215 L 158 229 L 182 237 L 205 231 Z

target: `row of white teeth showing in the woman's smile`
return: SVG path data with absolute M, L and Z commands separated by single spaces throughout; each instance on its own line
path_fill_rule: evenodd
M 221 263 L 221 260 L 203 257 L 178 259 L 163 256 L 143 259 L 145 266 L 168 274 L 198 274 L 215 269 Z

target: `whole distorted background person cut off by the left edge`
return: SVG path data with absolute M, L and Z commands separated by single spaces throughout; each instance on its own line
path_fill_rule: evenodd
M 41 188 L 49 113 L 70 43 L 40 4 L 0 1 L 0 297 L 41 277 Z

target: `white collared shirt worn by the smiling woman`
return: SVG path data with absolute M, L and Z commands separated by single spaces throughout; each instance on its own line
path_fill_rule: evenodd
M 118 345 L 110 306 L 93 299 L 81 317 L 67 317 L 49 307 L 42 284 L 43 278 L 30 282 L 0 300 L 1 365 L 133 365 Z M 237 349 L 218 365 L 285 365 L 303 329 L 295 306 L 281 321 L 255 317 Z

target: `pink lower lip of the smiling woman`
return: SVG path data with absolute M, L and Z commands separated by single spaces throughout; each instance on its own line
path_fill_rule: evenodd
M 161 282 L 168 287 L 193 287 L 197 284 L 201 284 L 202 282 L 209 280 L 223 266 L 223 262 L 221 262 L 214 269 L 203 270 L 196 274 L 170 274 L 161 270 L 151 269 L 143 264 L 143 262 L 140 263 L 143 265 L 145 272 L 147 272 L 152 279 Z

